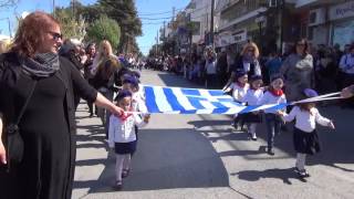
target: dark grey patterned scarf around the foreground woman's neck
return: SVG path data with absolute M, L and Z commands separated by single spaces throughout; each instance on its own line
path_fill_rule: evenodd
M 35 77 L 49 77 L 60 69 L 59 55 L 55 53 L 38 53 L 33 59 L 25 57 L 22 63 L 25 73 Z

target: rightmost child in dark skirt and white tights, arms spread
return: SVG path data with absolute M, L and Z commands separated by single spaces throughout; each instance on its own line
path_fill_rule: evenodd
M 313 90 L 304 91 L 305 97 L 317 96 L 317 93 Z M 293 143 L 296 150 L 296 164 L 295 172 L 301 178 L 310 177 L 305 170 L 305 157 L 306 155 L 313 155 L 320 151 L 320 143 L 317 132 L 315 129 L 316 123 L 322 126 L 329 126 L 334 129 L 332 121 L 323 117 L 319 109 L 315 107 L 315 103 L 303 103 L 294 106 L 290 114 L 285 112 L 279 112 L 285 122 L 292 122 L 295 119 Z

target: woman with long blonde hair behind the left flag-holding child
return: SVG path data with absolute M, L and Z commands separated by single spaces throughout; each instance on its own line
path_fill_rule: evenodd
M 119 61 L 113 54 L 112 45 L 107 40 L 100 43 L 98 54 L 94 60 L 96 64 L 95 75 L 93 77 L 94 87 L 102 93 L 106 98 L 113 102 L 115 92 L 114 84 L 119 84 L 118 72 L 122 69 Z M 108 123 L 111 113 L 104 108 L 98 108 L 97 114 L 105 126 L 106 137 L 108 136 Z

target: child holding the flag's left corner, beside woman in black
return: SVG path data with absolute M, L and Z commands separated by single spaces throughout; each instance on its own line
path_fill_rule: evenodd
M 132 112 L 132 93 L 122 90 L 115 97 L 117 106 L 125 112 Z M 122 178 L 127 177 L 131 170 L 131 158 L 136 150 L 136 134 L 134 126 L 145 126 L 149 121 L 146 115 L 143 119 L 137 114 L 125 114 L 119 117 L 112 115 L 110 117 L 108 145 L 114 148 L 116 154 L 116 181 L 114 188 L 121 190 L 123 187 Z

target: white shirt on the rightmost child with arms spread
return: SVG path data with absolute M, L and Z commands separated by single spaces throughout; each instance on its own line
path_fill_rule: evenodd
M 295 127 L 306 133 L 312 133 L 316 128 L 316 123 L 322 126 L 330 125 L 331 121 L 323 117 L 317 108 L 313 107 L 310 112 L 301 111 L 299 106 L 295 106 L 291 109 L 290 114 L 285 114 L 283 118 L 287 122 L 296 119 Z

